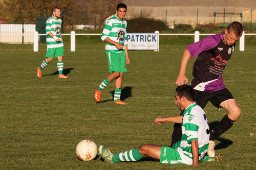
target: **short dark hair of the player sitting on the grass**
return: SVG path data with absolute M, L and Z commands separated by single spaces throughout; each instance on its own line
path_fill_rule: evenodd
M 194 89 L 189 85 L 181 85 L 176 88 L 177 95 L 179 98 L 182 98 L 183 96 L 191 102 L 195 101 L 195 91 Z

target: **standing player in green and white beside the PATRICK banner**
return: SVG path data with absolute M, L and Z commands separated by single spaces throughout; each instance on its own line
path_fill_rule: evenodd
M 127 105 L 127 103 L 120 100 L 123 73 L 127 71 L 125 63 L 130 63 L 126 39 L 127 22 L 123 19 L 126 10 L 127 7 L 125 4 L 118 4 L 116 15 L 106 21 L 101 35 L 101 39 L 106 42 L 105 51 L 109 62 L 110 75 L 105 78 L 99 87 L 95 88 L 94 97 L 97 102 L 100 102 L 101 91 L 106 85 L 116 79 L 114 103 Z

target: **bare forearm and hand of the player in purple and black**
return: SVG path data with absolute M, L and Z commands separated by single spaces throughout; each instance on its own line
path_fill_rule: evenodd
M 185 84 L 188 82 L 188 80 L 185 76 L 185 72 L 186 72 L 187 63 L 189 62 L 190 57 L 191 57 L 190 53 L 188 52 L 188 50 L 186 48 L 186 50 L 184 51 L 184 54 L 182 56 L 182 59 L 181 59 L 179 76 L 177 77 L 177 80 L 176 80 L 176 85 L 178 85 L 178 86 L 183 85 L 184 81 L 185 81 Z

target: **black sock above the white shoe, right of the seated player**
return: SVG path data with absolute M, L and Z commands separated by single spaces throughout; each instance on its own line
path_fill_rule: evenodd
M 224 132 L 226 132 L 229 128 L 231 128 L 236 122 L 236 120 L 231 120 L 227 114 L 221 119 L 220 124 L 210 132 L 210 138 L 209 140 L 214 141 L 217 139 L 220 135 L 222 135 Z

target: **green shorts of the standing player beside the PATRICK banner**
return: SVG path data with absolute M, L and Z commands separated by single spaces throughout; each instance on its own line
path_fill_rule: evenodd
M 110 73 L 112 73 L 113 71 L 127 71 L 125 68 L 126 57 L 124 51 L 122 51 L 121 53 L 111 53 L 106 51 L 106 57 L 108 58 Z

